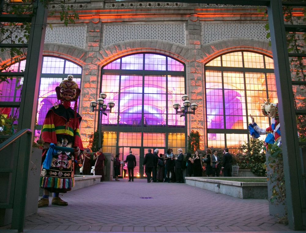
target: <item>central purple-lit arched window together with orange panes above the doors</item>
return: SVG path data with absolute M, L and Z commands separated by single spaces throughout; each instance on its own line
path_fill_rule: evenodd
M 101 91 L 107 94 L 106 103 L 113 100 L 115 107 L 102 116 L 103 150 L 114 153 L 123 146 L 185 148 L 185 118 L 173 108 L 185 94 L 185 76 L 184 64 L 153 53 L 121 57 L 104 66 Z M 106 139 L 114 134 L 107 131 L 118 132 L 117 146 L 114 140 Z

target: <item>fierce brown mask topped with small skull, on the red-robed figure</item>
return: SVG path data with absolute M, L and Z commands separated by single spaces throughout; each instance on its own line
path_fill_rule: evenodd
M 73 76 L 68 75 L 68 78 L 63 80 L 59 86 L 55 88 L 58 100 L 76 101 L 79 98 L 81 89 L 77 83 L 73 81 Z

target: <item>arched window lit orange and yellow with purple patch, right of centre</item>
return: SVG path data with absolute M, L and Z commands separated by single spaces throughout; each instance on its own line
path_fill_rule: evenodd
M 248 115 L 262 127 L 267 98 L 277 103 L 271 57 L 250 51 L 226 53 L 205 65 L 207 147 L 237 148 L 248 141 Z

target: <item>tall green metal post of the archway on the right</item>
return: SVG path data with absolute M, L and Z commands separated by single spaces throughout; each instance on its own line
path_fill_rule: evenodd
M 300 162 L 297 161 L 300 158 L 300 150 L 282 0 L 271 0 L 267 9 L 278 95 L 279 120 L 282 130 L 282 152 L 289 228 L 302 230 L 301 174 L 299 174 Z

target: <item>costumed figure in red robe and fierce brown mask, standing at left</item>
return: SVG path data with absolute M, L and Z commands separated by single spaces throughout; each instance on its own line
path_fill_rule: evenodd
M 80 138 L 80 122 L 82 117 L 76 112 L 76 101 L 81 90 L 73 76 L 68 75 L 55 88 L 58 103 L 47 112 L 41 130 L 44 141 L 40 187 L 43 197 L 38 207 L 49 205 L 49 192 L 53 193 L 52 205 L 67 206 L 68 202 L 59 197 L 59 193 L 70 191 L 74 187 L 74 167 L 80 151 L 84 151 Z M 74 109 L 70 107 L 75 101 Z M 56 151 L 54 146 L 72 147 L 74 152 Z

